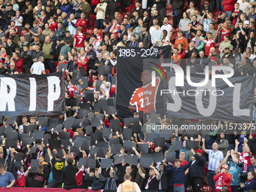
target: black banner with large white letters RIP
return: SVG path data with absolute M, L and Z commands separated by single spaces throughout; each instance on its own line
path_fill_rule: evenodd
M 0 115 L 43 116 L 65 113 L 62 72 L 50 75 L 0 75 Z

